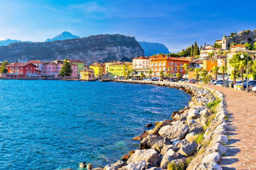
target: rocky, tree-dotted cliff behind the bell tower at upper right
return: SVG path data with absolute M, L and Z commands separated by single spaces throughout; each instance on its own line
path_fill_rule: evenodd
M 228 39 L 228 43 L 254 43 L 256 42 L 256 30 L 251 31 L 250 33 L 243 33 L 241 35 L 236 35 L 235 37 L 231 37 Z

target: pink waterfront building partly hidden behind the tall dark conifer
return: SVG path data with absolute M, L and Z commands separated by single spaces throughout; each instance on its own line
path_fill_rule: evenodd
M 44 71 L 41 74 L 42 77 L 53 77 L 53 78 L 62 78 L 59 73 L 61 70 L 64 61 L 55 60 L 50 62 L 45 62 L 44 64 Z M 71 68 L 73 70 L 72 75 L 66 78 L 78 78 L 77 77 L 77 65 L 71 64 Z

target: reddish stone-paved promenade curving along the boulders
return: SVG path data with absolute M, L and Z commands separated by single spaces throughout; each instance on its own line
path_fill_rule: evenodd
M 200 84 L 199 84 L 200 85 Z M 223 170 L 256 170 L 256 95 L 213 85 L 203 85 L 224 95 L 230 140 L 221 158 Z

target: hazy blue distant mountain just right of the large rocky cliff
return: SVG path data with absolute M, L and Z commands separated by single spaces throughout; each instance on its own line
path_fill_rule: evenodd
M 170 51 L 168 50 L 168 48 L 161 43 L 157 43 L 157 42 L 140 42 L 138 41 L 142 47 L 142 49 L 144 49 L 144 53 L 145 56 L 148 55 L 154 55 L 157 53 L 164 53 L 164 54 L 168 54 L 170 53 Z

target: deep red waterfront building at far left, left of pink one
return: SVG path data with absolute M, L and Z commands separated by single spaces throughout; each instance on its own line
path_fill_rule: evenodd
M 41 75 L 41 71 L 32 63 L 12 63 L 5 66 L 8 69 L 7 77 L 26 77 L 29 74 Z

